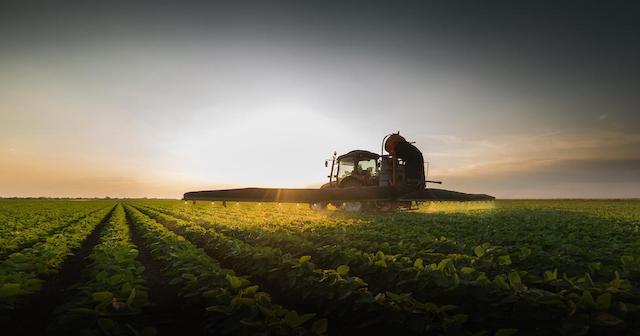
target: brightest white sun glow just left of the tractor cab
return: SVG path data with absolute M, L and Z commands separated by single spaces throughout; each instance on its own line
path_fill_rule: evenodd
M 323 162 L 335 149 L 330 134 L 339 132 L 345 143 L 353 140 L 353 132 L 304 104 L 250 110 L 219 122 L 200 113 L 164 150 L 187 174 L 212 184 L 307 187 L 324 182 Z

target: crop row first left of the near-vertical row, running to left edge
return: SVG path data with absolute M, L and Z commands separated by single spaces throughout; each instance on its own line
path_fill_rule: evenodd
M 44 279 L 57 272 L 111 210 L 92 213 L 46 240 L 9 255 L 0 263 L 0 308 L 13 309 L 17 299 L 38 291 Z

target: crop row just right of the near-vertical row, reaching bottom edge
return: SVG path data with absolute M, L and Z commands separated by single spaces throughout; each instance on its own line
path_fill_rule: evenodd
M 165 265 L 170 283 L 180 287 L 182 297 L 206 307 L 209 332 L 286 335 L 326 332 L 326 320 L 273 304 L 268 294 L 258 291 L 258 286 L 232 270 L 221 268 L 184 238 L 135 208 L 127 207 L 126 210 L 152 255 Z

